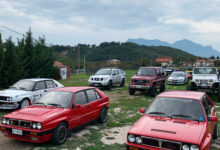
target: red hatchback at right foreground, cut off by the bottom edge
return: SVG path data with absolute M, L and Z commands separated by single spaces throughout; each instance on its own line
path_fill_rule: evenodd
M 127 134 L 128 150 L 209 150 L 218 136 L 214 103 L 203 92 L 158 95 Z

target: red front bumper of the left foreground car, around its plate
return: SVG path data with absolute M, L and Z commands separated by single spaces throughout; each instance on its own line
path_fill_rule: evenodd
M 13 129 L 22 130 L 22 135 L 13 134 Z M 0 130 L 5 137 L 32 143 L 43 143 L 49 141 L 53 133 L 53 130 L 36 131 L 33 129 L 11 128 L 2 124 L 0 125 Z

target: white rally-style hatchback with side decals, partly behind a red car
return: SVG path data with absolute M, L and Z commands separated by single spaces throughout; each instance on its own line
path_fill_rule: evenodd
M 50 89 L 63 87 L 53 79 L 33 78 L 19 80 L 9 89 L 0 91 L 0 109 L 25 108 Z

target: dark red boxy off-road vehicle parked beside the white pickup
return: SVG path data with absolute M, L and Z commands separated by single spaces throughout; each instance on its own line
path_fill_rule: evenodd
M 165 91 L 165 73 L 161 67 L 140 67 L 137 74 L 131 77 L 129 82 L 129 94 L 134 95 L 135 91 L 148 91 L 156 96 L 157 89 Z

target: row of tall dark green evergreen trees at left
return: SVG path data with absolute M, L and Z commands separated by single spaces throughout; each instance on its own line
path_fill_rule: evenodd
M 45 38 L 35 40 L 29 30 L 17 43 L 3 42 L 0 33 L 0 88 L 7 88 L 25 78 L 51 78 L 56 74 L 54 55 Z

